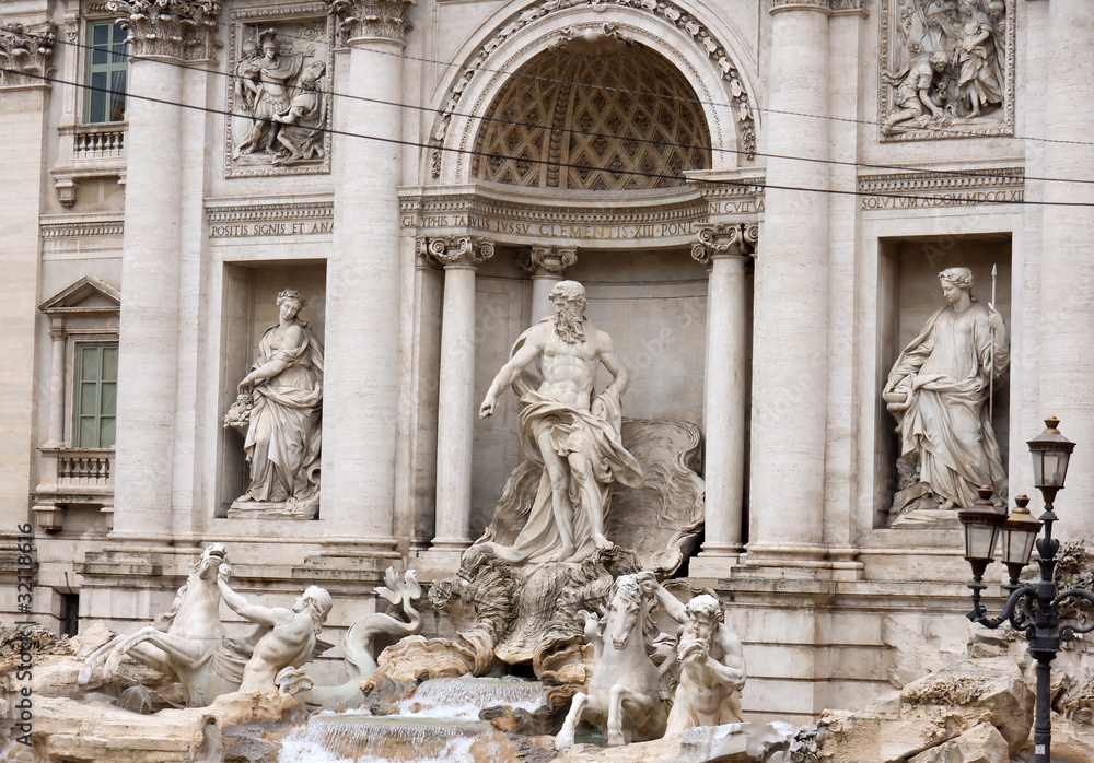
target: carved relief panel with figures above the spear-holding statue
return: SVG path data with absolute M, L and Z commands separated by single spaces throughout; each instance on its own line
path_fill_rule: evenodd
M 1014 133 L 1015 0 L 884 0 L 881 139 Z

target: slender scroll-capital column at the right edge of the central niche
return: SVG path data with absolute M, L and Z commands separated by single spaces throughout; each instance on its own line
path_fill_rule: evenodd
M 707 483 L 706 540 L 691 560 L 690 574 L 724 577 L 742 552 L 745 421 L 748 416 L 748 293 L 746 266 L 758 227 L 703 225 L 691 256 L 709 265 L 707 289 L 707 365 L 702 419 Z

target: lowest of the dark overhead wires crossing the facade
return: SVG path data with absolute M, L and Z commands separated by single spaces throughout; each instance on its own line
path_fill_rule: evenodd
M 47 77 L 45 74 L 35 74 L 35 73 L 30 73 L 30 72 L 23 72 L 23 71 L 20 71 L 20 70 L 9 69 L 9 68 L 5 68 L 5 67 L 0 67 L 0 71 L 8 72 L 8 73 L 13 73 L 13 74 L 22 74 L 24 77 L 31 77 L 31 78 L 38 79 L 38 80 L 42 80 L 44 82 L 50 82 L 50 83 L 54 83 L 54 84 L 63 84 L 63 85 L 72 86 L 72 87 L 80 87 L 80 89 L 83 89 L 83 90 L 91 90 L 91 91 L 102 92 L 102 93 L 108 93 L 108 92 L 110 92 L 109 89 L 106 89 L 106 87 L 95 87 L 95 86 L 92 86 L 92 85 L 89 85 L 89 84 L 84 84 L 84 83 L 69 82 L 69 81 L 66 81 L 66 80 L 60 80 L 58 78 Z M 155 97 L 152 97 L 152 96 L 149 96 L 149 95 L 138 95 L 138 94 L 135 94 L 135 93 L 128 93 L 126 97 L 138 98 L 140 101 L 147 101 L 147 102 L 151 102 L 151 103 L 159 103 L 159 104 L 162 104 L 162 105 L 174 106 L 174 107 L 177 107 L 177 108 L 186 108 L 186 109 L 196 110 L 196 111 L 203 111 L 206 114 L 216 114 L 216 115 L 226 116 L 226 117 L 240 116 L 237 114 L 233 114 L 232 111 L 228 111 L 228 110 L 224 110 L 224 109 L 212 108 L 212 107 L 209 107 L 209 106 L 198 106 L 196 104 L 186 104 L 186 103 L 182 103 L 182 102 L 177 102 L 177 101 L 168 101 L 168 99 L 165 99 L 165 98 L 155 98 Z M 472 156 L 487 156 L 487 157 L 489 157 L 489 156 L 494 156 L 496 155 L 496 154 L 492 154 L 492 153 L 486 152 L 486 151 L 476 151 L 476 150 L 473 150 L 473 149 L 459 149 L 459 148 L 445 146 L 445 145 L 430 145 L 428 143 L 421 143 L 421 142 L 411 141 L 411 140 L 400 140 L 400 139 L 396 139 L 396 138 L 384 138 L 384 137 L 381 137 L 381 136 L 370 136 L 370 134 L 359 133 L 359 132 L 349 132 L 349 131 L 346 131 L 346 130 L 336 130 L 336 129 L 330 128 L 330 127 L 322 127 L 322 128 L 317 127 L 317 128 L 314 128 L 314 129 L 316 129 L 319 132 L 330 133 L 333 136 L 344 136 L 344 137 L 347 137 L 347 138 L 360 138 L 360 139 L 364 139 L 364 140 L 373 140 L 373 141 L 377 141 L 377 142 L 389 143 L 389 144 L 397 144 L 397 145 L 405 145 L 405 146 L 410 146 L 410 148 L 416 148 L 416 149 L 435 149 L 435 150 L 439 150 L 439 151 L 444 151 L 444 152 L 450 152 L 450 153 L 459 153 L 459 154 L 472 155 Z M 523 157 L 522 157 L 522 161 L 526 161 L 526 162 L 532 163 L 532 164 L 540 164 L 540 165 L 548 165 L 548 166 L 566 167 L 566 168 L 570 168 L 570 169 L 604 171 L 603 167 L 597 167 L 597 166 L 593 166 L 593 165 L 585 165 L 585 164 L 574 164 L 574 163 L 571 163 L 571 162 L 555 162 L 555 161 L 543 160 L 543 159 L 523 159 Z M 642 171 L 636 171 L 636 169 L 625 169 L 625 168 L 613 168 L 613 169 L 609 169 L 609 171 L 606 171 L 606 172 L 612 172 L 612 173 L 615 173 L 617 175 L 631 175 L 631 176 L 648 177 L 648 178 L 655 178 L 655 179 L 670 179 L 670 180 L 675 180 L 675 181 L 680 181 L 680 183 L 687 181 L 687 178 L 684 177 L 684 176 L 680 176 L 680 175 L 666 175 L 666 174 L 663 174 L 663 173 L 650 173 L 650 172 L 642 172 Z M 921 196 L 917 196 L 917 195 L 913 195 L 913 193 L 893 193 L 893 192 L 886 192 L 886 191 L 859 191 L 859 190 L 847 190 L 847 189 L 806 188 L 806 187 L 801 187 L 801 186 L 772 185 L 770 183 L 767 183 L 767 180 L 763 179 L 763 178 L 725 179 L 725 180 L 719 180 L 719 183 L 721 183 L 723 185 L 730 185 L 730 186 L 757 187 L 757 188 L 771 189 L 771 190 L 801 191 L 801 192 L 806 192 L 806 193 L 828 193 L 828 195 L 833 195 L 833 196 L 884 197 L 884 198 L 892 198 L 892 199 L 916 199 L 916 200 L 919 200 L 919 199 L 922 198 Z M 956 203 L 958 203 L 958 204 L 973 203 L 971 200 L 965 201 L 963 199 L 955 199 L 954 201 Z M 984 200 L 977 200 L 976 203 L 987 203 L 987 204 L 1031 204 L 1031 206 L 1039 206 L 1039 207 L 1094 207 L 1094 202 L 1081 202 L 1081 201 L 1044 201 L 1044 200 L 1039 200 L 1039 199 L 1038 200 L 1031 200 L 1031 199 L 1024 199 L 1024 198 L 1023 199 L 984 199 Z

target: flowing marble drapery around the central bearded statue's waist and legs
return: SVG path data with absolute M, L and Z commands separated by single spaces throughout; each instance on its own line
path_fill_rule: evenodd
M 527 333 L 525 331 L 516 340 L 511 357 L 524 344 Z M 568 479 L 568 493 L 573 506 L 573 557 L 586 559 L 593 555 L 595 545 L 586 507 L 583 505 L 584 495 L 597 496 L 598 504 L 591 510 L 600 512 L 606 519 L 612 501 L 612 484 L 618 482 L 628 488 L 644 488 L 642 468 L 622 447 L 619 434 L 622 415 L 619 397 L 614 391 L 602 392 L 593 399 L 589 410 L 581 410 L 554 400 L 539 387 L 539 374 L 532 369 L 525 369 L 513 384 L 513 390 L 521 398 L 521 444 L 525 455 L 543 467 L 538 438 L 546 431 L 551 447 L 563 459 L 573 453 L 589 459 L 590 474 L 584 480 L 572 469 L 569 470 Z M 561 548 L 562 539 L 554 514 L 552 490 L 550 474 L 544 467 L 539 486 L 528 509 L 527 523 L 512 545 L 496 547 L 499 556 L 511 562 L 545 562 Z M 479 542 L 482 540 L 486 538 Z

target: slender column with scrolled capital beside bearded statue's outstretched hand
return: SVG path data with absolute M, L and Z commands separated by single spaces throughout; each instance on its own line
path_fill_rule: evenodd
M 476 236 L 423 239 L 423 254 L 444 267 L 441 373 L 437 411 L 437 536 L 431 551 L 470 545 L 475 400 L 475 268 L 493 256 Z

